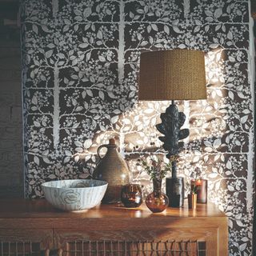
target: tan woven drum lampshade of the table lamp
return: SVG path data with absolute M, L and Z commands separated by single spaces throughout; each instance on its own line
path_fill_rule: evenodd
M 159 50 L 141 54 L 139 100 L 206 98 L 204 53 L 199 50 Z

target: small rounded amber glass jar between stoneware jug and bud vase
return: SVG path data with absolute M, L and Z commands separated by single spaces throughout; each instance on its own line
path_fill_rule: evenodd
M 138 184 L 126 184 L 122 186 L 121 201 L 124 206 L 135 208 L 142 204 L 142 190 Z

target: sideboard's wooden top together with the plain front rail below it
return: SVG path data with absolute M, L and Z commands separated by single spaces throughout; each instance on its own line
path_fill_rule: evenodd
M 50 206 L 44 199 L 0 200 L 1 229 L 85 229 L 146 230 L 170 227 L 198 229 L 227 223 L 227 217 L 213 203 L 198 204 L 197 210 L 167 208 L 153 214 L 142 204 L 138 208 L 122 205 L 100 205 L 90 210 L 64 212 Z

